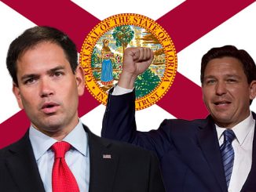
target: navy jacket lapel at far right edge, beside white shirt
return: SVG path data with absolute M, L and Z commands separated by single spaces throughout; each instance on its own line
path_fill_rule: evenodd
M 253 114 L 254 120 L 256 121 L 256 114 L 254 113 L 252 114 Z M 256 177 L 256 124 L 254 126 L 254 141 L 253 141 L 253 148 L 252 148 L 251 171 L 249 172 L 247 180 L 244 183 L 241 191 L 255 191 L 256 189 L 255 177 Z

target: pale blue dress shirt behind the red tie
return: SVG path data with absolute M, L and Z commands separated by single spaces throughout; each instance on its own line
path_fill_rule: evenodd
M 29 138 L 34 151 L 35 160 L 46 192 L 52 192 L 52 169 L 54 152 L 50 147 L 57 142 L 32 125 L 29 129 Z M 63 141 L 71 144 L 71 150 L 65 155 L 65 160 L 79 185 L 80 191 L 89 191 L 90 182 L 90 155 L 88 136 L 83 129 L 82 122 L 75 126 Z

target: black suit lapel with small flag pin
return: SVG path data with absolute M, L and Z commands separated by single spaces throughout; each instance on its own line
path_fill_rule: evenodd
M 113 154 L 111 143 L 93 135 L 86 126 L 90 149 L 90 192 L 111 192 L 119 157 Z

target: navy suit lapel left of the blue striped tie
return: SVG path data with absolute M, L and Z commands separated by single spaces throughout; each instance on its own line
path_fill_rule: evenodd
M 214 121 L 210 117 L 207 118 L 207 125 L 199 128 L 199 146 L 203 150 L 203 155 L 207 159 L 219 187 L 222 191 L 227 191 L 218 135 Z

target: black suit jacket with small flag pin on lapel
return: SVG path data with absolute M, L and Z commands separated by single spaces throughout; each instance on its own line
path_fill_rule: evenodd
M 84 128 L 90 147 L 90 192 L 165 191 L 155 154 L 100 138 Z M 103 154 L 111 158 L 103 158 Z M 0 150 L 0 191 L 45 191 L 28 132 Z

